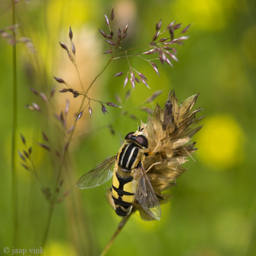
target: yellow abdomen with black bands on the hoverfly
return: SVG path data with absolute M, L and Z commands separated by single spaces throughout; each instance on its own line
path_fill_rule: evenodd
M 115 203 L 115 212 L 119 216 L 127 216 L 131 211 L 134 193 L 132 191 L 132 175 L 122 176 L 113 173 L 112 198 Z

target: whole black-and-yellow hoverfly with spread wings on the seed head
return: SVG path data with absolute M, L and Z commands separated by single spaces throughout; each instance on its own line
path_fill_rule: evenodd
M 85 173 L 78 181 L 77 188 L 94 188 L 111 179 L 111 205 L 119 216 L 127 216 L 138 202 L 152 218 L 161 218 L 161 207 L 156 193 L 147 177 L 143 163 L 147 156 L 154 152 L 146 152 L 148 140 L 143 129 L 129 132 L 118 154 Z M 115 163 L 113 171 L 111 166 Z M 149 170 L 150 168 L 148 168 Z

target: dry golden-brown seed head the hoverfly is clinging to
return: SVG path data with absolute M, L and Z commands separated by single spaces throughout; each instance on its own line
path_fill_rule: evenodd
M 186 170 L 182 164 L 188 161 L 196 150 L 191 137 L 202 128 L 202 125 L 196 124 L 204 117 L 196 118 L 196 113 L 202 109 L 191 110 L 197 98 L 198 94 L 192 95 L 179 105 L 172 91 L 164 109 L 157 104 L 153 115 L 148 116 L 147 124 L 141 122 L 149 150 L 143 164 L 160 204 L 168 202 L 170 194 L 162 194 L 162 191 L 175 185 L 177 177 Z M 154 220 L 136 202 L 133 207 L 133 211 L 135 210 L 140 211 L 143 220 Z

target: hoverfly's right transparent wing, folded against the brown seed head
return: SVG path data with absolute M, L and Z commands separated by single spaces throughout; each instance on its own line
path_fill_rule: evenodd
M 161 219 L 161 207 L 143 166 L 138 168 L 138 186 L 135 198 L 141 207 L 155 220 Z

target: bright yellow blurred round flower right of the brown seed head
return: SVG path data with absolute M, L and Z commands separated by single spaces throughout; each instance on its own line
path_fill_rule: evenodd
M 198 137 L 198 157 L 220 169 L 230 168 L 243 160 L 244 133 L 230 115 L 216 115 L 205 120 Z

